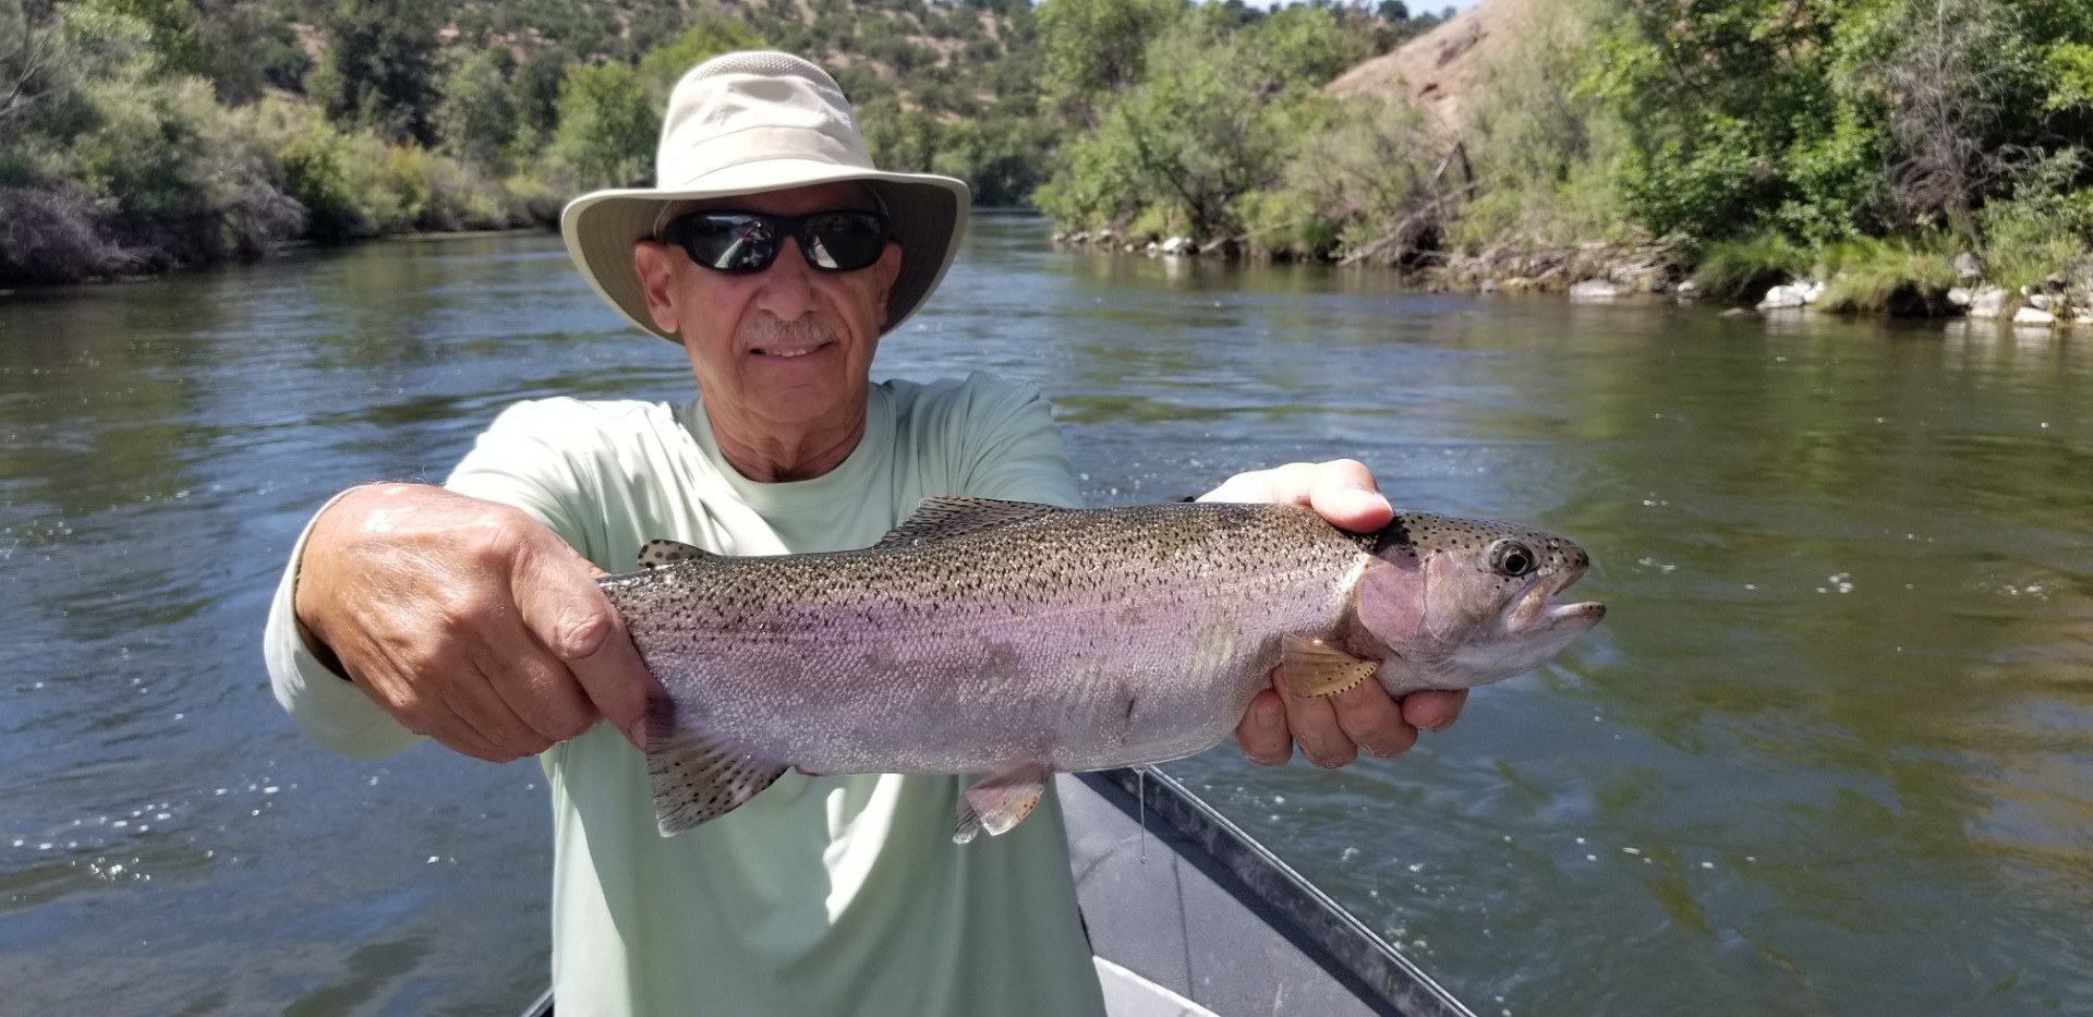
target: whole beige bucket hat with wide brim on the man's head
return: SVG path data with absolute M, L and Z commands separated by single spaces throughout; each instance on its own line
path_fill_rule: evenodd
M 632 245 L 663 226 L 674 201 L 862 180 L 885 203 L 902 270 L 887 291 L 881 335 L 938 289 L 967 228 L 967 184 L 950 176 L 873 167 L 850 100 L 820 67 L 787 52 L 728 52 L 676 82 L 661 119 L 653 188 L 594 190 L 559 216 L 582 278 L 632 324 L 661 339 L 647 316 Z

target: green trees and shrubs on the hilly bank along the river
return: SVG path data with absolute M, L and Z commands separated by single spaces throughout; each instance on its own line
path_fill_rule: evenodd
M 0 0 L 0 287 L 553 226 L 747 46 L 1061 243 L 2093 326 L 2066 0 Z

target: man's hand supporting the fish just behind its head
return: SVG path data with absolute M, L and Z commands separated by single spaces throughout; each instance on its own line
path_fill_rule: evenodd
M 1314 508 L 1331 525 L 1356 534 L 1373 532 L 1394 519 L 1388 498 L 1381 498 L 1367 467 L 1340 458 L 1333 462 L 1289 462 L 1285 467 L 1237 473 L 1226 483 L 1199 496 L 1201 502 L 1291 502 Z M 1277 676 L 1275 676 L 1277 678 Z M 1461 716 L 1467 691 L 1411 693 L 1398 703 L 1373 682 L 1333 697 L 1298 697 L 1285 682 L 1258 693 L 1235 726 L 1243 755 L 1264 766 L 1279 766 L 1302 755 L 1316 766 L 1344 766 L 1358 749 L 1373 755 L 1396 755 L 1417 743 L 1419 730 L 1440 730 Z

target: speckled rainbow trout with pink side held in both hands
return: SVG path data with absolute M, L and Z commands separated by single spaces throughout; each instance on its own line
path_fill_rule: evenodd
M 1176 760 L 1281 680 L 1469 688 L 1599 624 L 1557 536 L 1396 513 L 1346 534 L 1291 504 L 1055 508 L 931 498 L 864 550 L 720 557 L 657 540 L 601 580 L 666 691 L 649 709 L 674 835 L 787 768 L 988 774 L 957 841 L 1005 833 L 1053 772 Z

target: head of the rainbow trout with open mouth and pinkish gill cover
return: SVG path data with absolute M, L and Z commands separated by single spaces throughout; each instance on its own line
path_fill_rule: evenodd
M 1375 561 L 1354 588 L 1354 642 L 1381 661 L 1375 676 L 1394 695 L 1530 672 L 1605 617 L 1601 603 L 1555 603 L 1591 567 L 1555 534 L 1396 513 L 1367 550 Z

